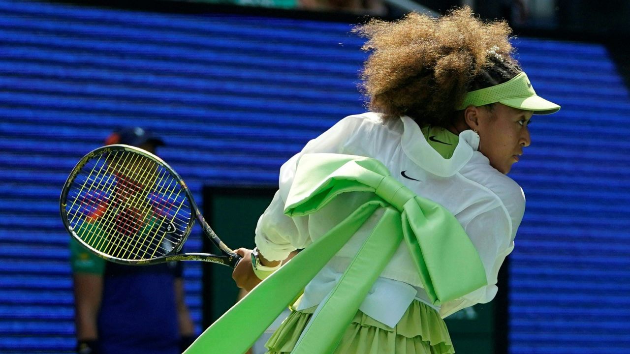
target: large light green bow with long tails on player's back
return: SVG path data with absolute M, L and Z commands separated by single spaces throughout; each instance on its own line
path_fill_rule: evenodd
M 285 214 L 309 215 L 345 192 L 370 198 L 297 254 L 219 318 L 186 354 L 243 353 L 324 265 L 379 208 L 381 219 L 365 239 L 331 294 L 311 317 L 292 353 L 331 353 L 359 305 L 402 239 L 433 304 L 487 285 L 479 254 L 457 219 L 441 205 L 418 197 L 375 159 L 304 154 L 287 197 Z

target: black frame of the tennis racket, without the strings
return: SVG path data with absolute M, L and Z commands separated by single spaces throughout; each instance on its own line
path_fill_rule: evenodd
M 166 169 L 166 171 L 168 171 L 168 173 L 170 173 L 171 176 L 173 176 L 173 178 L 175 178 L 175 180 L 179 183 L 181 190 L 184 191 L 186 198 L 188 199 L 188 203 L 190 203 L 192 214 L 194 214 L 195 217 L 194 218 L 190 217 L 190 220 L 188 220 L 188 224 L 186 225 L 186 229 L 182 232 L 182 237 L 181 237 L 180 242 L 168 254 L 165 254 L 163 256 L 158 256 L 155 258 L 149 258 L 146 260 L 129 260 L 125 258 L 113 257 L 113 256 L 110 256 L 109 254 L 103 253 L 101 251 L 98 251 L 98 249 L 95 249 L 89 246 L 88 243 L 83 241 L 83 239 L 81 239 L 81 237 L 79 237 L 76 234 L 73 227 L 70 225 L 66 207 L 67 207 L 67 196 L 72 186 L 72 183 L 77 178 L 78 174 L 81 172 L 81 168 L 83 168 L 83 166 L 86 163 L 88 163 L 88 161 L 90 161 L 95 156 L 103 154 L 103 152 L 106 152 L 106 151 L 133 152 L 134 154 L 140 154 L 144 157 L 147 157 L 155 161 L 156 163 L 160 164 L 161 167 Z M 151 154 L 151 152 L 140 149 L 139 147 L 124 145 L 124 144 L 112 144 L 112 145 L 101 146 L 94 149 L 93 151 L 88 152 L 88 154 L 83 156 L 83 158 L 81 158 L 81 160 L 79 160 L 79 162 L 74 166 L 74 168 L 72 169 L 72 172 L 70 173 L 70 175 L 68 176 L 66 180 L 66 183 L 64 183 L 64 187 L 62 188 L 61 195 L 59 198 L 59 207 L 60 207 L 60 214 L 61 214 L 61 219 L 64 223 L 64 227 L 66 227 L 66 230 L 69 232 L 70 236 L 76 239 L 84 247 L 89 249 L 89 251 L 96 254 L 96 256 L 99 256 L 100 258 L 103 258 L 108 261 L 112 261 L 114 263 L 119 263 L 123 265 L 154 265 L 154 264 L 166 263 L 170 261 L 205 261 L 205 262 L 226 265 L 226 266 L 230 266 L 234 268 L 236 267 L 238 262 L 241 260 L 241 256 L 234 253 L 232 249 L 227 247 L 226 244 L 224 244 L 223 241 L 219 239 L 219 236 L 217 236 L 214 230 L 212 230 L 212 227 L 210 227 L 210 225 L 205 221 L 205 219 L 203 218 L 203 215 L 199 211 L 197 203 L 195 203 L 195 199 L 193 198 L 192 192 L 190 191 L 190 189 L 188 188 L 184 180 L 181 178 L 180 174 L 178 174 L 175 171 L 175 169 L 171 168 L 171 166 L 160 157 L 154 154 Z M 221 250 L 224 256 L 220 256 L 217 254 L 207 254 L 207 253 L 181 253 L 183 244 L 186 242 L 186 239 L 188 239 L 188 235 L 190 235 L 190 232 L 192 231 L 192 226 L 193 224 L 195 224 L 195 220 L 197 220 L 197 223 L 202 227 L 203 233 L 210 239 L 210 241 L 212 241 L 212 243 L 215 244 L 215 246 L 217 246 L 217 248 Z

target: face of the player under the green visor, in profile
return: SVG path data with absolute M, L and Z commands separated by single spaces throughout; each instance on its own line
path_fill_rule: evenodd
M 517 163 L 523 149 L 529 146 L 529 124 L 532 111 L 518 110 L 496 103 L 492 109 L 479 110 L 479 152 L 501 173 L 508 173 Z

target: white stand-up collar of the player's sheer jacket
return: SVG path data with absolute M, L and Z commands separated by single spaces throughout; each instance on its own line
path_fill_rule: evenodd
M 437 176 L 450 177 L 457 173 L 479 147 L 479 135 L 473 130 L 464 130 L 459 134 L 459 143 L 453 156 L 445 159 L 429 145 L 416 122 L 407 116 L 401 119 L 404 127 L 403 151 L 418 166 Z

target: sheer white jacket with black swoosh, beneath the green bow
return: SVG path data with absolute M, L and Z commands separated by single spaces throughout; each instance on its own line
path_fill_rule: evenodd
M 489 302 L 498 290 L 496 281 L 501 263 L 514 248 L 525 197 L 515 181 L 490 166 L 488 159 L 477 151 L 478 146 L 479 135 L 466 130 L 459 135 L 453 156 L 444 159 L 409 117 L 388 123 L 383 123 L 377 113 L 346 117 L 311 140 L 280 168 L 279 190 L 258 220 L 256 246 L 268 260 L 284 260 L 291 251 L 306 248 L 323 236 L 352 212 L 352 205 L 361 202 L 362 194 L 356 193 L 333 201 L 346 203 L 348 207 L 329 205 L 306 217 L 284 215 L 284 201 L 302 154 L 329 152 L 373 157 L 384 163 L 403 185 L 455 215 L 481 256 L 488 285 L 441 306 L 430 304 L 403 242 L 359 309 L 393 327 L 413 299 L 432 306 L 442 317 Z M 366 222 L 307 285 L 299 310 L 312 311 L 322 302 L 379 217 L 376 214 Z

